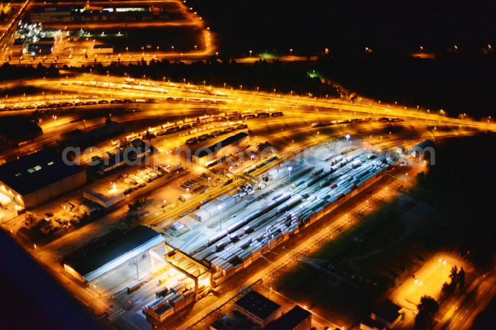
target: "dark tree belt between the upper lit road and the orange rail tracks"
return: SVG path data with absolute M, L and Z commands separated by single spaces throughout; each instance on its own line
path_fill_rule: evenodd
M 107 66 L 101 63 L 82 67 L 71 67 L 77 72 L 94 72 L 103 75 L 117 75 L 149 78 L 182 82 L 186 80 L 193 84 L 217 87 L 232 87 L 233 89 L 249 89 L 265 92 L 290 93 L 329 98 L 338 97 L 339 89 L 336 86 L 323 82 L 320 78 L 310 78 L 308 64 L 293 64 L 280 61 L 259 60 L 254 64 L 237 63 L 227 58 L 212 56 L 206 61 L 196 61 L 191 64 L 167 59 L 149 62 L 144 60 L 138 63 L 112 62 Z

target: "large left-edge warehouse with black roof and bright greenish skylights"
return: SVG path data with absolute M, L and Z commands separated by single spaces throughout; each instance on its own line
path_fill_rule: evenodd
M 48 149 L 0 166 L 0 193 L 31 208 L 86 183 L 86 171 Z

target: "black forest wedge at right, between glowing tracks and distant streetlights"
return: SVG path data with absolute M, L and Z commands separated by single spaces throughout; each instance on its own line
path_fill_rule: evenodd
M 325 77 L 358 94 L 382 102 L 445 110 L 450 116 L 468 113 L 495 116 L 495 54 L 410 56 L 319 55 L 315 64 Z

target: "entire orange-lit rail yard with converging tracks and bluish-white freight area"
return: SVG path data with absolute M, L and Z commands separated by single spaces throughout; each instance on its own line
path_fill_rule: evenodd
M 69 278 L 66 288 L 95 313 L 138 329 L 186 327 L 185 315 L 207 314 L 212 295 L 232 287 L 240 273 L 263 269 L 264 256 L 283 253 L 285 242 L 309 235 L 315 222 L 332 220 L 355 196 L 422 171 L 429 160 L 415 149 L 420 142 L 495 128 L 362 98 L 353 103 L 165 78 L 83 74 L 30 83 L 43 92 L 3 98 L 0 115 L 31 118 L 36 111 L 42 133 L 19 137 L 18 148 L 5 148 L 1 158 L 22 158 L 65 139 L 91 148 L 78 161 L 92 174 L 83 187 L 29 213 L 49 226 L 59 214 L 75 215 L 73 207 L 90 209 L 87 199 L 100 206 L 28 249 L 61 281 Z M 103 118 L 122 127 L 88 135 L 93 147 L 70 136 L 101 127 Z M 118 163 L 117 155 L 137 141 L 150 145 L 151 160 Z M 205 150 L 206 161 L 199 154 Z M 106 157 L 110 165 L 91 163 Z M 2 221 L 14 236 L 27 221 L 18 211 Z M 125 247 L 115 246 L 140 226 L 151 236 L 136 234 L 133 241 L 129 234 Z M 80 266 L 97 262 L 98 270 Z

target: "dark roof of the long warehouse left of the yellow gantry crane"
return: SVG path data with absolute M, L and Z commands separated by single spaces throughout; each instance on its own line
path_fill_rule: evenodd
M 144 225 L 139 225 L 82 256 L 76 256 L 72 260 L 68 260 L 65 264 L 69 265 L 77 273 L 85 277 L 121 259 L 126 254 L 130 254 L 129 258 L 123 260 L 123 262 L 127 261 L 134 257 L 134 255 L 131 254 L 132 252 L 157 238 L 161 238 L 157 241 L 165 240 L 160 233 L 155 230 Z M 160 242 L 157 242 L 157 244 L 158 243 Z M 137 252 L 136 254 L 139 253 L 140 252 Z M 111 267 L 107 271 L 110 271 L 115 267 Z M 105 273 L 105 271 L 103 273 Z

